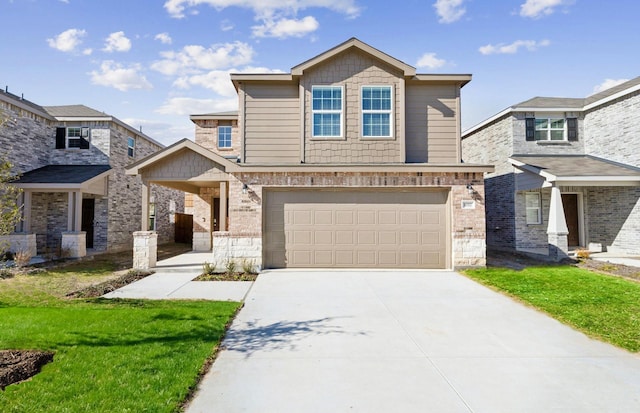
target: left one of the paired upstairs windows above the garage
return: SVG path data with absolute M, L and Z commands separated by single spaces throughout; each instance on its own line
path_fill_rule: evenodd
M 342 86 L 313 86 L 311 106 L 314 137 L 342 137 Z

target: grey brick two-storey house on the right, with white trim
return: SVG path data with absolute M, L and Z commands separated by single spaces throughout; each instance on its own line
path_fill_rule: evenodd
M 465 131 L 485 175 L 487 244 L 562 259 L 640 255 L 640 77 L 584 99 L 536 97 Z

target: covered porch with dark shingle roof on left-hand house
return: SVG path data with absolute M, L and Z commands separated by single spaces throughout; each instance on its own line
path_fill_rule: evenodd
M 109 165 L 47 165 L 22 175 L 21 220 L 3 237 L 12 252 L 79 258 L 94 247 L 96 202 L 107 195 Z

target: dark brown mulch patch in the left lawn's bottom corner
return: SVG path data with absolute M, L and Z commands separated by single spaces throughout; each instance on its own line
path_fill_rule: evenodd
M 50 351 L 0 350 L 0 389 L 35 376 L 52 361 Z

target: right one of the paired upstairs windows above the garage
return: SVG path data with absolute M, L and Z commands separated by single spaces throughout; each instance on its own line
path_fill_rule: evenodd
M 362 87 L 362 136 L 390 138 L 392 130 L 391 86 Z

